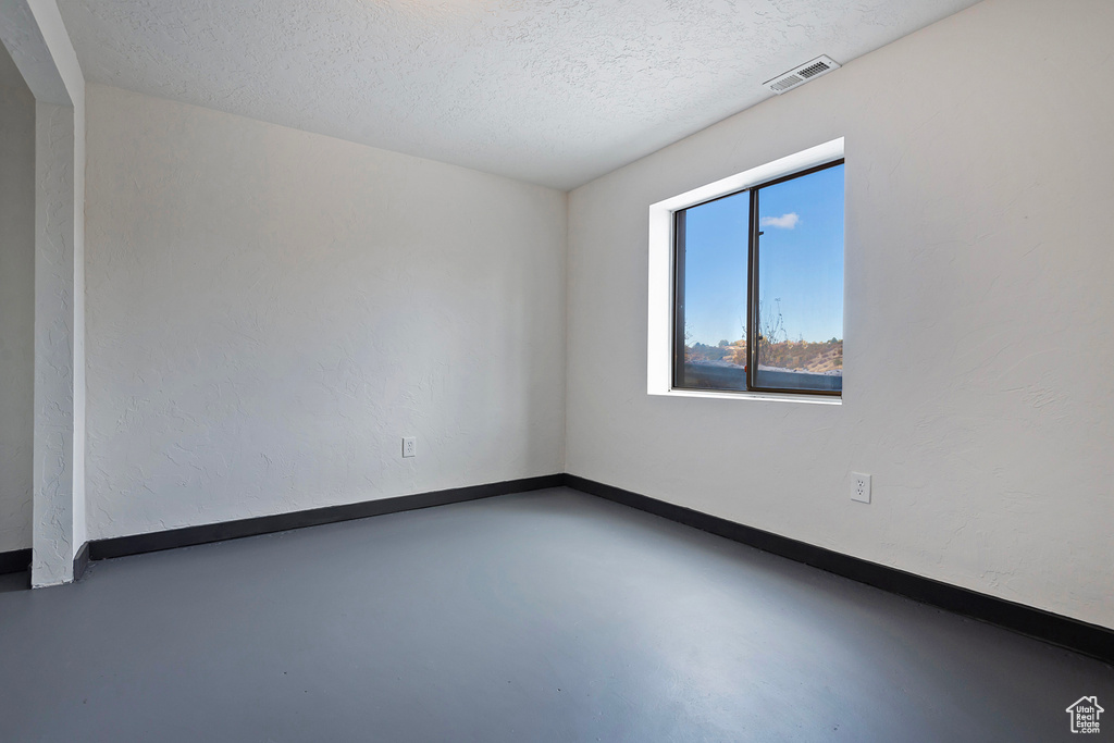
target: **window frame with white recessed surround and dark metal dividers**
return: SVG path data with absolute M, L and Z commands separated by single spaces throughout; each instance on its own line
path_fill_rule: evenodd
M 754 384 L 754 346 L 747 343 L 746 390 L 687 388 L 677 384 L 678 358 L 684 353 L 684 321 L 678 307 L 684 292 L 684 229 L 678 221 L 695 206 L 751 192 L 750 235 L 747 239 L 746 336 L 756 338 L 758 261 L 761 255 L 756 209 L 759 192 L 793 178 L 846 165 L 843 139 L 811 147 L 706 186 L 658 202 L 649 207 L 649 315 L 647 345 L 647 393 L 675 397 L 758 399 L 842 404 L 843 390 L 802 390 Z M 681 216 L 678 216 L 681 215 Z M 844 239 L 846 245 L 846 239 Z M 846 274 L 844 274 L 846 282 Z M 683 363 L 683 362 L 682 362 Z

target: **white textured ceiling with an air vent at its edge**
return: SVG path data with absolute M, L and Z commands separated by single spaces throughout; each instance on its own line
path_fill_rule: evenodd
M 974 2 L 58 4 L 94 82 L 571 188 Z

